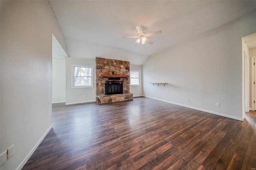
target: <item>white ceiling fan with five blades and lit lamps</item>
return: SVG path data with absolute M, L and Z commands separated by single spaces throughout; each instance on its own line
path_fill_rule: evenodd
M 132 46 L 139 44 L 140 42 L 142 45 L 145 43 L 148 43 L 151 45 L 153 42 L 148 40 L 148 38 L 146 38 L 146 37 L 154 36 L 156 34 L 162 34 L 161 30 L 146 34 L 145 32 L 143 32 L 143 26 L 136 26 L 136 30 L 138 31 L 138 36 L 123 37 L 123 38 L 138 38 Z

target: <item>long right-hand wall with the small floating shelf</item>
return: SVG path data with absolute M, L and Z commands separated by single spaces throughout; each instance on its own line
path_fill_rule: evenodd
M 242 120 L 241 40 L 256 32 L 255 18 L 254 12 L 150 56 L 142 67 L 144 95 Z

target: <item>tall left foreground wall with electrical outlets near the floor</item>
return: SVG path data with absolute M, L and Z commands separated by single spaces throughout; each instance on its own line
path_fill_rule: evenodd
M 21 169 L 52 125 L 52 34 L 65 38 L 48 1 L 1 1 L 2 170 Z

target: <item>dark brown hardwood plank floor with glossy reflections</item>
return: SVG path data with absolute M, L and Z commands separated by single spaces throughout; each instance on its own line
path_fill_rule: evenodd
M 145 97 L 56 104 L 23 170 L 255 170 L 255 121 L 255 111 L 236 121 Z

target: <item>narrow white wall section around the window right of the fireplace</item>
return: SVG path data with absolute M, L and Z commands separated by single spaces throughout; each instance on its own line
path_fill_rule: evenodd
M 142 83 L 142 80 L 143 80 L 143 77 L 142 77 L 142 65 L 133 65 L 133 64 L 130 64 L 130 70 L 140 70 L 140 86 L 131 86 L 130 85 L 130 93 L 133 93 L 133 97 L 138 97 L 138 96 L 142 96 L 142 86 L 143 86 L 143 83 Z

